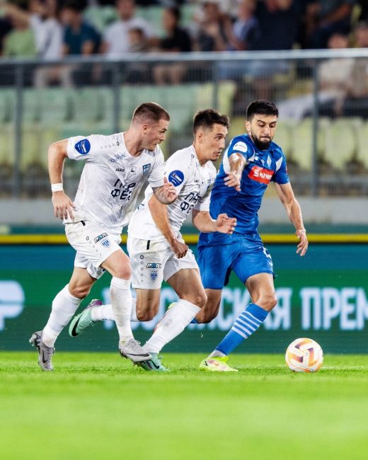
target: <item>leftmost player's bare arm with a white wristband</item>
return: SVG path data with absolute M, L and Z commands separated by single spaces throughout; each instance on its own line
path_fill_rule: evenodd
M 62 171 L 64 160 L 67 158 L 67 139 L 51 144 L 47 156 L 50 183 L 52 186 L 52 205 L 54 206 L 54 215 L 59 219 L 73 218 L 74 203 L 62 188 Z M 57 190 L 59 189 L 59 190 Z

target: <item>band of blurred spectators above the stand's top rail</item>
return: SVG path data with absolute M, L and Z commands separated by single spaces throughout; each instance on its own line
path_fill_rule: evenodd
M 146 8 L 159 9 L 159 25 Z M 367 47 L 367 11 L 367 0 L 1 0 L 1 55 L 314 49 L 334 34 Z

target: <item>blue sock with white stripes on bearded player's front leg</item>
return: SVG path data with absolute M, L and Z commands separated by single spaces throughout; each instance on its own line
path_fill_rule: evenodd
M 268 311 L 260 306 L 249 304 L 236 318 L 233 327 L 225 335 L 215 350 L 229 355 L 243 340 L 252 335 L 267 318 Z

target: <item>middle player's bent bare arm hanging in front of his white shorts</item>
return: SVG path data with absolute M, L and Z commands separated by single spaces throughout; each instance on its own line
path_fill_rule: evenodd
M 156 199 L 155 196 L 152 196 L 148 202 L 148 206 L 152 218 L 154 219 L 154 223 L 158 227 L 159 231 L 161 231 L 161 234 L 165 236 L 171 249 L 173 250 L 173 253 L 177 258 L 183 258 L 188 252 L 188 246 L 176 238 L 176 235 L 171 228 L 170 221 L 168 220 L 168 210 L 166 205 L 163 205 Z

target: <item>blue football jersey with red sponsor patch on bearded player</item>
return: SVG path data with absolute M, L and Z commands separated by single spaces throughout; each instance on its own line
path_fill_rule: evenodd
M 229 157 L 241 154 L 246 159 L 246 166 L 241 176 L 241 191 L 224 184 L 226 172 L 230 171 Z M 271 142 L 267 150 L 259 150 L 248 134 L 241 134 L 231 140 L 224 154 L 222 165 L 217 173 L 212 188 L 209 213 L 212 219 L 226 212 L 229 217 L 236 217 L 236 234 L 253 234 L 258 228 L 258 209 L 270 181 L 285 184 L 289 182 L 285 156 L 280 146 Z M 227 244 L 232 242 L 231 235 L 201 233 L 199 245 Z

